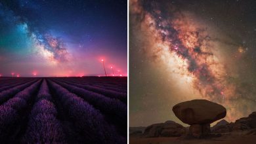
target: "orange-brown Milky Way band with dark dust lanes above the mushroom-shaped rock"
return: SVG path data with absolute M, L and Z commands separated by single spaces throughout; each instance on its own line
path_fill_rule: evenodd
M 176 81 L 186 81 L 201 98 L 223 104 L 228 111 L 226 120 L 234 121 L 253 111 L 255 99 L 243 92 L 242 84 L 232 81 L 237 73 L 230 71 L 234 65 L 226 65 L 224 48 L 219 44 L 239 47 L 239 56 L 246 51 L 243 46 L 212 36 L 211 26 L 167 1 L 132 1 L 131 14 L 136 30 L 144 33 L 138 39 L 150 41 L 143 48 L 148 58 L 169 67 L 169 75 L 179 73 Z

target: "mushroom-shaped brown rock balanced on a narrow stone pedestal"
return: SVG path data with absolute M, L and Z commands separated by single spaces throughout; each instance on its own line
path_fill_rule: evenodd
M 217 103 L 205 99 L 184 101 L 173 107 L 173 112 L 185 124 L 190 124 L 190 134 L 203 137 L 210 134 L 210 124 L 224 118 L 226 109 Z

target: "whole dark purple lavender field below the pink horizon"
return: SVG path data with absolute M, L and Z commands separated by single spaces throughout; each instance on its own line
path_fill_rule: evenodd
M 127 143 L 127 77 L 0 77 L 1 143 Z

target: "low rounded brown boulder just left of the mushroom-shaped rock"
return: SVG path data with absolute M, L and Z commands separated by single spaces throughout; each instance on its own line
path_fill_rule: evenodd
M 171 120 L 146 127 L 144 137 L 179 137 L 186 133 L 186 128 Z

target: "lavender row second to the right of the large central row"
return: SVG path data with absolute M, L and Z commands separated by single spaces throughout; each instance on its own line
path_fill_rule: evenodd
M 119 123 L 121 126 L 127 126 L 127 105 L 117 99 L 107 98 L 101 94 L 96 94 L 83 88 L 78 88 L 64 82 L 56 81 L 70 92 L 77 94 L 81 98 L 85 99 L 88 103 L 93 105 L 96 109 L 99 109 L 106 117 L 111 117 L 112 123 Z

